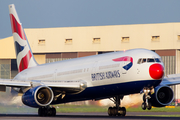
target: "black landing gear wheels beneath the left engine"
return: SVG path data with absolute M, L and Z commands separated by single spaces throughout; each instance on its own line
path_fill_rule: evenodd
M 39 116 L 56 116 L 56 109 L 54 107 L 46 106 L 38 109 Z

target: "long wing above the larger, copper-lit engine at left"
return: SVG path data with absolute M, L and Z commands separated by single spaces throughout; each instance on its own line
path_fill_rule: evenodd
M 36 87 L 48 86 L 51 88 L 58 88 L 59 90 L 69 93 L 76 93 L 83 91 L 87 87 L 87 83 L 83 80 L 14 80 L 14 79 L 0 79 L 0 91 L 4 91 L 5 87 Z

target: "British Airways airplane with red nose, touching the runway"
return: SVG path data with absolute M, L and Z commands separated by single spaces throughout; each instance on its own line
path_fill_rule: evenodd
M 108 108 L 109 116 L 125 116 L 121 100 L 136 93 L 144 94 L 144 110 L 173 101 L 170 86 L 180 84 L 180 75 L 165 77 L 164 64 L 157 53 L 137 48 L 40 65 L 14 4 L 9 5 L 9 14 L 19 72 L 13 79 L 0 79 L 0 91 L 8 86 L 21 93 L 22 102 L 38 108 L 39 116 L 55 116 L 55 104 L 106 98 L 115 104 Z

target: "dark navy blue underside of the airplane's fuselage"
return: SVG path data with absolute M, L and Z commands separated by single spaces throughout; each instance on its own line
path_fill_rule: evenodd
M 140 93 L 144 87 L 158 86 L 161 80 L 144 80 L 135 82 L 126 82 L 110 85 L 102 85 L 95 87 L 88 87 L 83 92 L 74 95 L 66 95 L 63 99 L 59 97 L 52 104 L 60 104 L 82 100 L 104 99 L 116 95 L 129 95 Z

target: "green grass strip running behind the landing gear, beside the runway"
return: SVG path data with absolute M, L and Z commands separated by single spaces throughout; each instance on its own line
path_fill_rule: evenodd
M 108 106 L 95 106 L 95 105 L 56 105 L 57 113 L 71 113 L 71 112 L 107 112 Z M 0 113 L 36 113 L 38 109 L 30 107 L 17 107 L 17 106 L 0 106 Z M 152 108 L 151 110 L 142 110 L 138 108 L 127 108 L 127 112 L 180 112 L 180 107 L 175 108 Z

